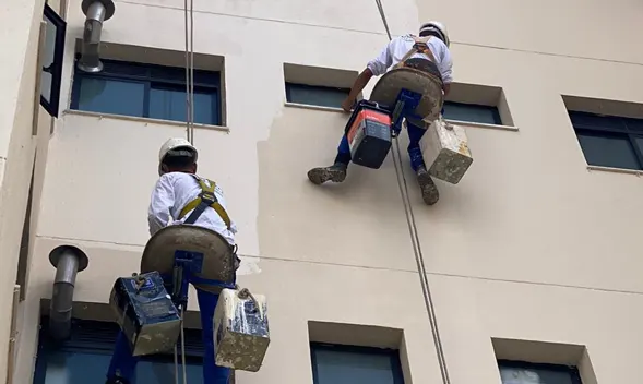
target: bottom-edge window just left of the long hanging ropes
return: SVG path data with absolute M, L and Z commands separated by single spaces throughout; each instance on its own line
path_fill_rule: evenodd
M 396 350 L 319 343 L 310 350 L 314 384 L 404 384 Z

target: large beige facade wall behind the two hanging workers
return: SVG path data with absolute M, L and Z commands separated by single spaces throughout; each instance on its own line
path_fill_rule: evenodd
M 610 4 L 384 2 L 395 34 L 427 19 L 446 22 L 456 80 L 502 87 L 519 129 L 468 127 L 475 161 L 459 185 L 439 183 L 438 205 L 424 206 L 410 185 L 453 383 L 499 383 L 491 338 L 584 345 L 598 383 L 638 377 L 626 368 L 640 360 L 635 340 L 643 336 L 643 182 L 586 169 L 561 98 L 643 103 L 632 86 L 643 81 L 634 38 L 641 5 Z M 119 1 L 103 40 L 180 57 L 181 7 Z M 374 3 L 195 7 L 195 50 L 225 57 L 227 125 L 198 129 L 199 167 L 224 188 L 240 227 L 240 253 L 251 266 L 240 283 L 271 304 L 265 367 L 241 373 L 239 383 L 279 383 L 283 372 L 289 382 L 312 383 L 308 321 L 403 329 L 407 383 L 439 382 L 390 159 L 379 171 L 352 167 L 342 185 L 311 185 L 306 171 L 332 161 L 346 117 L 284 106 L 284 62 L 358 71 L 377 55 L 385 35 Z M 62 106 L 82 31 L 78 1 L 68 22 Z M 79 275 L 75 299 L 106 302 L 114 279 L 138 267 L 158 146 L 183 134 L 174 124 L 88 113 L 57 122 L 35 202 L 19 374 L 33 369 L 39 300 L 50 296 L 53 278 L 49 251 L 82 248 L 90 267 Z

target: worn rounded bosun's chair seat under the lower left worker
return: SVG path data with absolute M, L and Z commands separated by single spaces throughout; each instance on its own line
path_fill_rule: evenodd
M 217 232 L 191 225 L 168 226 L 156 232 L 143 251 L 141 273 L 157 271 L 160 275 L 171 275 L 177 251 L 203 254 L 203 267 L 201 273 L 194 276 L 234 283 L 238 265 L 231 247 Z M 221 287 L 210 285 L 195 287 L 213 293 L 219 293 L 222 290 Z

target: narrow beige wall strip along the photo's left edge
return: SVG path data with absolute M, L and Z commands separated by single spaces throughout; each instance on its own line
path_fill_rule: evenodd
M 44 1 L 0 5 L 0 377 L 7 377 L 13 286 L 35 154 L 34 89 Z

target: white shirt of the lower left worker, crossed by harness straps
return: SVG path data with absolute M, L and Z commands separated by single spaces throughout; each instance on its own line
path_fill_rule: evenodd
M 178 220 L 181 209 L 183 209 L 188 203 L 199 197 L 200 193 L 201 187 L 191 175 L 183 172 L 169 172 L 163 175 L 154 187 L 147 212 L 150 235 L 154 236 L 154 233 L 168 225 L 184 223 L 188 217 L 190 217 L 192 211 L 190 211 L 181 220 Z M 214 189 L 214 194 L 216 195 L 218 203 L 224 209 L 226 209 L 226 212 L 228 212 L 223 190 L 218 184 Z M 221 218 L 216 211 L 211 207 L 206 208 L 201 214 L 194 225 L 212 229 L 223 236 L 230 245 L 235 244 L 237 226 L 231 221 L 230 229 L 228 230 L 223 218 Z

